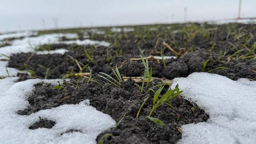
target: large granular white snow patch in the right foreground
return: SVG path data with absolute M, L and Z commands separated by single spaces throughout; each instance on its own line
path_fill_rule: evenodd
M 209 114 L 207 122 L 182 126 L 179 144 L 256 144 L 256 81 L 205 72 L 175 78 L 182 96 Z

